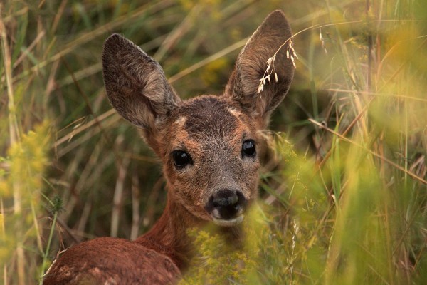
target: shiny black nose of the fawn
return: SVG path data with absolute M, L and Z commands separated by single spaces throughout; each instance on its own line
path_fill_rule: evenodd
M 209 198 L 205 209 L 216 219 L 233 219 L 243 212 L 246 199 L 236 190 L 219 190 Z

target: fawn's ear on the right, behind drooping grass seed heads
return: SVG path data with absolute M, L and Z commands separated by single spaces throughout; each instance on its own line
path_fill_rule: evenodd
M 291 41 L 288 41 L 291 36 L 283 11 L 268 15 L 239 53 L 236 68 L 226 86 L 224 94 L 237 101 L 243 111 L 258 120 L 263 128 L 268 124 L 272 111 L 288 93 L 294 75 L 292 60 L 286 56 L 288 50 L 293 56 Z M 267 71 L 267 61 L 274 55 Z M 258 92 L 260 80 L 268 74 L 270 81 L 265 79 L 263 90 Z

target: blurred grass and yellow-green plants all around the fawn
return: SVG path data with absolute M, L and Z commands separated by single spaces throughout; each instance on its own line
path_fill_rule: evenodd
M 182 98 L 220 94 L 275 9 L 300 59 L 272 119 L 260 224 L 250 254 L 201 251 L 185 282 L 426 284 L 422 0 L 2 1 L 0 283 L 37 284 L 60 250 L 135 239 L 162 213 L 161 166 L 105 96 L 107 36 L 154 56 Z

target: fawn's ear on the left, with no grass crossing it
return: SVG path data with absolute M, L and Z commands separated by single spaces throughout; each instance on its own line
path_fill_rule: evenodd
M 102 69 L 111 105 L 123 118 L 149 133 L 161 128 L 181 100 L 159 63 L 118 34 L 104 43 Z

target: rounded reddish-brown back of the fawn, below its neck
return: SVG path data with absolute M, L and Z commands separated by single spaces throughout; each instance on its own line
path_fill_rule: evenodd
M 179 274 L 165 255 L 126 239 L 101 237 L 64 252 L 43 284 L 174 284 Z

